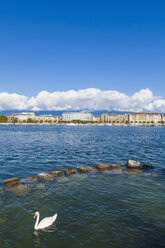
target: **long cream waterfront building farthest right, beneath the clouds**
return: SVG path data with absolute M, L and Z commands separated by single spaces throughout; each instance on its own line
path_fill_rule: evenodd
M 158 123 L 161 121 L 159 113 L 132 113 L 128 115 L 128 121 L 133 123 Z

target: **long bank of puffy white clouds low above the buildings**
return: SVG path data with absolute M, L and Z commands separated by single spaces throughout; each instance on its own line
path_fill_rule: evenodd
M 125 93 L 96 88 L 41 91 L 36 97 L 0 93 L 0 110 L 116 110 L 165 112 L 165 100 L 153 95 L 150 89 L 142 89 L 132 96 Z

